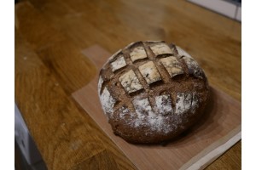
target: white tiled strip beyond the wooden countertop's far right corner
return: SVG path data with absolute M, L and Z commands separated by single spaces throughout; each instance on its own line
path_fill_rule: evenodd
M 241 21 L 241 3 L 224 0 L 189 0 L 189 2 L 209 8 L 219 14 L 224 14 L 231 19 Z

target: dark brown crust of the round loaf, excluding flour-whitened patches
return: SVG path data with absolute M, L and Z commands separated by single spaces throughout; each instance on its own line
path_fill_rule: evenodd
M 113 116 L 108 117 L 108 122 L 113 128 L 113 133 L 131 143 L 154 144 L 173 139 L 178 134 L 195 124 L 203 113 L 205 105 L 207 104 L 209 88 L 207 84 L 207 77 L 205 76 L 204 72 L 201 70 L 202 78 L 195 77 L 193 74 L 191 74 L 182 57 L 178 57 L 177 48 L 174 44 L 169 45 L 173 54 L 160 54 L 155 56 L 153 51 L 149 48 L 152 43 L 154 42 L 135 42 L 130 48 L 124 48 L 119 54 L 124 55 L 127 65 L 117 71 L 114 71 L 113 73 L 110 62 L 114 59 L 111 59 L 106 65 L 104 65 L 100 72 L 100 76 L 103 79 L 102 89 L 108 88 L 110 94 L 114 99 L 117 100 L 113 106 Z M 138 59 L 132 63 L 129 54 L 131 53 L 131 50 L 137 46 L 143 46 L 145 48 L 148 58 Z M 166 68 L 160 64 L 160 59 L 168 56 L 174 56 L 177 58 L 183 68 L 184 74 L 176 77 L 170 77 L 166 71 Z M 161 81 L 148 85 L 140 71 L 138 71 L 138 66 L 147 63 L 149 60 L 153 61 L 154 65 L 157 67 L 157 70 L 160 73 Z M 135 72 L 143 86 L 143 89 L 131 94 L 127 93 L 119 82 L 119 77 L 126 71 L 130 70 Z M 100 90 L 100 94 L 102 94 L 102 89 Z M 150 105 L 154 109 L 154 97 L 166 93 L 171 95 L 173 108 L 175 108 L 176 105 L 177 93 L 196 93 L 197 97 L 199 98 L 199 107 L 196 108 L 194 114 L 191 110 L 189 110 L 182 115 L 171 114 L 165 116 L 165 120 L 170 124 L 170 126 L 172 126 L 172 124 L 173 126 L 175 125 L 172 132 L 152 133 L 148 127 L 132 127 L 129 123 L 127 123 L 127 120 L 132 121 L 132 115 L 130 117 L 125 117 L 125 119 L 121 119 L 119 117 L 119 109 L 122 106 L 127 107 L 131 111 L 131 114 L 136 112 L 134 106 L 132 105 L 132 99 L 134 99 L 134 97 L 139 97 L 141 99 L 148 98 Z

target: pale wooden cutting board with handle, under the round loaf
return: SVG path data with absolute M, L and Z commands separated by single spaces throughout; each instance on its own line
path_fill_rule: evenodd
M 83 50 L 97 71 L 111 54 L 100 46 Z M 138 169 L 202 169 L 241 139 L 241 103 L 211 88 L 207 111 L 195 127 L 165 145 L 129 144 L 113 134 L 97 94 L 97 79 L 74 92 L 73 98 L 119 146 Z

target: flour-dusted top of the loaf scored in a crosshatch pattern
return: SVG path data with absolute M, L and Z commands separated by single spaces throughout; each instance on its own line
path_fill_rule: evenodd
M 108 118 L 132 117 L 133 127 L 168 133 L 165 116 L 193 114 L 199 107 L 203 79 L 201 67 L 182 48 L 133 42 L 103 65 L 98 91 Z

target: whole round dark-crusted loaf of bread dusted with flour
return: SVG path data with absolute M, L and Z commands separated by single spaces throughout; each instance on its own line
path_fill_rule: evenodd
M 174 44 L 133 42 L 100 71 L 98 94 L 113 133 L 131 143 L 177 137 L 198 121 L 208 98 L 204 71 Z

